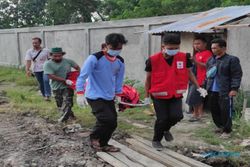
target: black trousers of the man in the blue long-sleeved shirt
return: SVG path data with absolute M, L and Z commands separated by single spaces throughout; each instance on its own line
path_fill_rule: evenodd
M 87 99 L 96 124 L 90 134 L 90 139 L 98 139 L 101 146 L 106 146 L 117 127 L 117 113 L 114 100 Z

